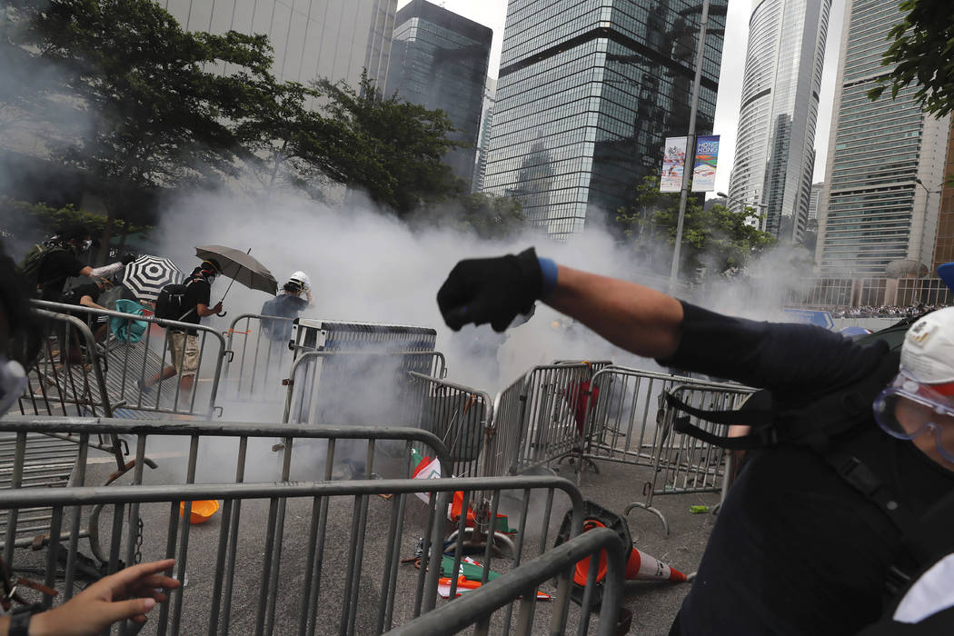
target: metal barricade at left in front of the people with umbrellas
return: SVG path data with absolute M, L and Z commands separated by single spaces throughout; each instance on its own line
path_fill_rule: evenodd
M 216 413 L 228 352 L 214 329 L 155 318 L 144 308 L 126 313 L 33 302 L 41 308 L 34 311 L 45 333 L 41 358 L 20 400 L 22 414 L 209 419 Z M 170 334 L 176 330 L 197 332 L 197 379 L 191 391 L 182 388 L 183 376 L 189 375 L 185 349 L 179 359 L 170 351 Z

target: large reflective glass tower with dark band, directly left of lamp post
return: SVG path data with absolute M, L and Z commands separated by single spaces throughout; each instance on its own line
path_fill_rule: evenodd
M 557 238 L 603 224 L 688 133 L 697 0 L 510 0 L 484 189 Z M 696 133 L 712 131 L 725 29 L 713 0 Z

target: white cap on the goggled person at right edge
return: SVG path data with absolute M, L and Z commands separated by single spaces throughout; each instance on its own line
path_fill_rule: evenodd
M 911 325 L 901 347 L 901 368 L 923 384 L 954 381 L 954 307 Z

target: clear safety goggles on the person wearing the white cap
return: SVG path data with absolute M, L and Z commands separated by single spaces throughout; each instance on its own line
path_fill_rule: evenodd
M 874 411 L 891 437 L 913 440 L 929 433 L 941 456 L 954 462 L 954 398 L 902 372 L 875 399 Z

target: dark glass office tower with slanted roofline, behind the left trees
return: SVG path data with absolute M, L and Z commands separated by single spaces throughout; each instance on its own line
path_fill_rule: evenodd
M 484 106 L 493 31 L 425 0 L 411 0 L 394 28 L 386 92 L 429 110 L 441 109 L 467 146 L 444 156 L 469 185 Z

